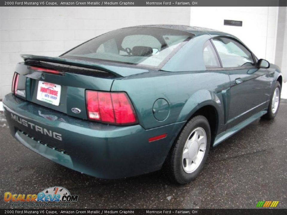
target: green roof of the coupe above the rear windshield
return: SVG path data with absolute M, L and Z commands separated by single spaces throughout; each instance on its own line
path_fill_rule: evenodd
M 154 24 L 154 25 L 137 25 L 132 27 L 154 27 L 154 28 L 166 28 L 172 30 L 180 30 L 188 33 L 193 33 L 194 35 L 202 35 L 202 34 L 217 34 L 217 35 L 226 35 L 226 33 L 214 30 L 210 28 L 204 27 L 196 27 L 196 26 L 188 26 L 188 25 L 170 25 L 170 24 Z

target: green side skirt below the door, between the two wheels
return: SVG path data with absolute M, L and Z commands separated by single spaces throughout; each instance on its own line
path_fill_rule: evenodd
M 236 132 L 238 132 L 239 130 L 244 128 L 245 126 L 249 125 L 251 122 L 254 122 L 256 119 L 260 118 L 261 116 L 263 116 L 266 113 L 267 113 L 267 110 L 262 110 L 259 113 L 254 114 L 253 116 L 249 117 L 245 121 L 243 121 L 243 122 L 239 123 L 238 125 L 234 126 L 233 128 L 230 128 L 230 129 L 220 133 L 215 138 L 215 141 L 213 143 L 213 147 L 217 146 L 219 143 L 221 143 L 222 141 L 226 140 L 228 137 L 232 136 L 233 134 L 235 134 Z

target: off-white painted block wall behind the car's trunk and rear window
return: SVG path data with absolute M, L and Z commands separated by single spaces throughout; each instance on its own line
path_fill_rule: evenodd
M 189 25 L 190 7 L 2 7 L 0 99 L 20 53 L 59 56 L 97 35 L 141 24 Z

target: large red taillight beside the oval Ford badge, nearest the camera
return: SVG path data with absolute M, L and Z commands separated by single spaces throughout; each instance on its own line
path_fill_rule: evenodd
M 115 125 L 138 123 L 135 109 L 126 93 L 86 90 L 88 119 Z

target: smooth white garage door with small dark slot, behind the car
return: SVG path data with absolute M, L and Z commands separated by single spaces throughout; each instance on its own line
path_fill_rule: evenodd
M 224 19 L 242 21 L 242 27 L 224 25 Z M 237 36 L 260 59 L 274 63 L 278 7 L 192 7 L 190 25 Z

